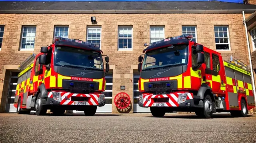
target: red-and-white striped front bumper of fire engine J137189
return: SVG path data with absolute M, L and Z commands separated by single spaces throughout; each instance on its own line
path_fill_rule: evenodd
M 74 100 L 86 98 L 86 101 Z M 106 103 L 104 94 L 74 94 L 70 92 L 48 92 L 47 100 L 43 105 L 56 106 L 104 106 Z

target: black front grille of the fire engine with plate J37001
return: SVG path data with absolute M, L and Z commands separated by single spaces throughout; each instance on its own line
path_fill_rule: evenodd
M 170 84 L 168 87 L 167 85 Z M 162 81 L 162 82 L 146 82 L 144 83 L 145 91 L 169 91 L 169 90 L 176 90 L 178 88 L 177 80 L 169 80 L 169 81 Z

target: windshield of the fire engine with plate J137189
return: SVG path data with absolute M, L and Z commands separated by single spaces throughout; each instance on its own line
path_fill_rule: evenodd
M 72 47 L 56 47 L 54 65 L 84 70 L 102 70 L 102 56 L 98 52 Z

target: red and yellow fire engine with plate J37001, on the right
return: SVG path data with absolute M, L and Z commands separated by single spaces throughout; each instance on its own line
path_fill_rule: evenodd
M 190 34 L 150 43 L 138 58 L 139 106 L 155 117 L 166 112 L 216 112 L 245 117 L 255 107 L 251 73 L 238 61 L 190 40 Z M 141 63 L 142 62 L 142 63 Z

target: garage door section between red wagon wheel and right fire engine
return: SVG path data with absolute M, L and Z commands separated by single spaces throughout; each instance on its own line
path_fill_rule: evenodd
M 138 88 L 138 80 L 139 80 L 140 76 L 134 75 L 133 76 L 133 112 L 137 112 L 137 113 L 148 113 L 150 112 L 150 108 L 142 108 L 139 106 L 139 96 L 140 96 L 140 92 L 139 92 L 139 88 Z

